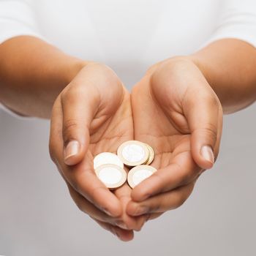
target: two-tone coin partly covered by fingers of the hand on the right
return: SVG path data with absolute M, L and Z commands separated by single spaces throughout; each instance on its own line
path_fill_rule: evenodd
M 127 176 L 129 187 L 132 187 L 133 189 L 135 186 L 140 184 L 141 181 L 144 181 L 156 171 L 156 168 L 149 165 L 139 165 L 133 167 Z

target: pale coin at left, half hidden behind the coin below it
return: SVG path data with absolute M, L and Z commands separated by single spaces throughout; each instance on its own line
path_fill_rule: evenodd
M 121 168 L 124 168 L 123 162 L 121 162 L 121 159 L 116 154 L 110 152 L 102 152 L 100 154 L 97 154 L 96 157 L 94 157 L 94 170 L 100 165 L 108 164 L 117 165 Z

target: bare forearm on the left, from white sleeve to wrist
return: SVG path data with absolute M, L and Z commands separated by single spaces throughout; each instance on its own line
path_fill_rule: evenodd
M 49 118 L 54 100 L 86 65 L 35 37 L 0 45 L 0 102 L 24 116 Z

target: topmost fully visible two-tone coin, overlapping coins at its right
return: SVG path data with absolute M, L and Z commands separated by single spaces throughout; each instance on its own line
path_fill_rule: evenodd
M 124 165 L 132 167 L 147 162 L 149 150 L 145 143 L 137 140 L 129 140 L 119 146 L 117 155 L 124 162 Z

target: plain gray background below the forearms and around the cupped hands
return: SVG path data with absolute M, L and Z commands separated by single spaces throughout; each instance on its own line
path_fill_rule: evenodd
M 128 243 L 72 202 L 48 156 L 49 122 L 0 112 L 0 255 L 256 255 L 255 111 L 225 116 L 214 169 Z

